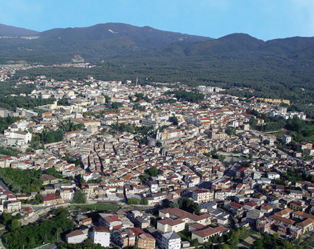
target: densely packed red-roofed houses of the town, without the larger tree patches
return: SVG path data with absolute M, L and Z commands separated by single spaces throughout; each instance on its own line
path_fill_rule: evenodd
M 292 150 L 280 149 L 278 137 L 250 129 L 248 122 L 253 115 L 246 110 L 272 116 L 286 113 L 289 118 L 299 115 L 300 119 L 305 119 L 304 114 L 289 114 L 274 103 L 247 103 L 220 93 L 218 88 L 199 87 L 206 94 L 204 100 L 190 103 L 178 101 L 167 84 L 140 86 L 90 76 L 87 82 L 58 82 L 44 75 L 33 81 L 21 78 L 18 84 L 36 85 L 31 98 L 68 98 L 70 103 L 59 105 L 55 101 L 38 107 L 42 114 L 0 110 L 0 116 L 24 118 L 4 131 L 1 143 L 25 151 L 33 134 L 57 130 L 61 122 L 70 121 L 80 128 L 66 132 L 61 142 L 48 144 L 45 149 L 2 156 L 0 167 L 43 172 L 53 167 L 62 178 L 80 181 L 61 183 L 49 174 L 40 176 L 45 184 L 40 190 L 43 206 L 70 202 L 75 192 L 82 190 L 88 201 L 128 202 L 135 198 L 147 200 L 149 206 L 189 197 L 200 205 L 201 214 L 161 209 L 156 231 L 148 232 L 150 218 L 142 212 L 100 213 L 100 227 L 68 234 L 69 243 L 89 238 L 103 246 L 114 243 L 154 248 L 158 244 L 160 248 L 179 248 L 177 232 L 188 229 L 191 239 L 205 243 L 228 232 L 230 220 L 265 232 L 276 227 L 283 236 L 295 238 L 313 229 L 314 183 L 282 181 L 292 169 L 307 179 L 314 176 L 313 159 L 304 157 L 314 155 L 313 144 L 301 142 Z M 121 103 L 119 110 L 111 108 L 114 103 Z M 36 119 L 31 120 L 31 116 Z M 255 121 L 265 125 L 263 119 Z M 114 130 L 117 124 L 149 127 L 151 133 L 142 137 L 147 143 L 142 143 L 138 134 Z M 288 144 L 292 137 L 283 135 L 282 140 Z M 228 157 L 227 165 L 218 159 L 220 155 Z M 158 174 L 149 174 L 153 167 Z M 20 197 L 4 192 L 2 211 L 20 210 Z M 211 223 L 214 227 L 209 227 Z

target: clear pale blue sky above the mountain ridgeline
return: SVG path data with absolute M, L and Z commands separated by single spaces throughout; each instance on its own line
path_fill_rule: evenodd
M 45 31 L 107 22 L 211 38 L 314 36 L 314 0 L 0 0 L 0 24 Z

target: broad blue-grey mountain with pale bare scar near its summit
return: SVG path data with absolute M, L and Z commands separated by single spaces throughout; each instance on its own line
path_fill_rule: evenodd
M 195 43 L 208 37 L 160 31 L 151 27 L 107 23 L 85 28 L 51 29 L 38 33 L 37 39 L 1 39 L 0 63 L 26 60 L 33 63 L 71 60 L 103 61 L 153 50 L 170 43 Z M 76 58 L 76 59 L 74 59 Z

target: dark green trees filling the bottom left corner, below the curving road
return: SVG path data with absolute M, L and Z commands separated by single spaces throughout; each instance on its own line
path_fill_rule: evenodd
M 2 243 L 7 248 L 36 248 L 43 246 L 43 243 L 54 243 L 75 229 L 73 222 L 66 218 L 68 211 L 58 207 L 54 211 L 54 217 L 32 225 L 20 227 L 15 225 L 14 230 L 3 234 Z

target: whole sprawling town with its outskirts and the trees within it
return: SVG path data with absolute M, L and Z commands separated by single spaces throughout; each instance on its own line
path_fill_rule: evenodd
M 73 65 L 90 66 L 64 66 Z M 27 68 L 3 66 L 0 79 Z M 0 135 L 7 248 L 27 248 L 15 240 L 20 227 L 41 225 L 68 210 L 67 228 L 32 238 L 28 246 L 313 243 L 314 148 L 299 139 L 297 128 L 287 130 L 308 120 L 304 112 L 288 110 L 289 100 L 238 98 L 215 86 L 101 81 L 93 75 L 62 82 L 45 75 L 20 77 L 15 87 L 27 84 L 35 89 L 20 96 L 53 101 L 0 110 L 1 119 L 13 121 Z

